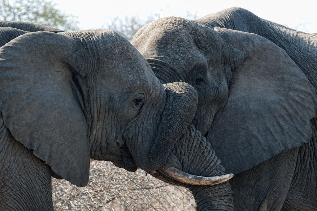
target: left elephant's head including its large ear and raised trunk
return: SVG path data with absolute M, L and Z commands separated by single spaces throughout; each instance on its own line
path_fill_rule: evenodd
M 160 156 L 195 113 L 195 90 L 178 83 L 166 94 L 144 58 L 113 31 L 21 34 L 0 50 L 0 111 L 16 140 L 78 186 L 88 182 L 89 158 L 128 171 L 163 165 Z M 170 97 L 178 104 L 166 104 Z

